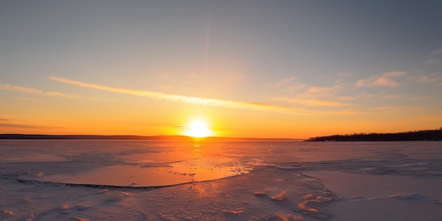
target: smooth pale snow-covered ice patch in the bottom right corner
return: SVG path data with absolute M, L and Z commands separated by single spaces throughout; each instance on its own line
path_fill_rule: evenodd
M 326 189 L 342 197 L 328 208 L 335 220 L 442 220 L 441 177 L 336 171 L 304 174 L 321 179 Z

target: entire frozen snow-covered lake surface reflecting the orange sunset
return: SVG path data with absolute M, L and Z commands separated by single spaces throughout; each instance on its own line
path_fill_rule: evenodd
M 0 141 L 0 220 L 442 220 L 441 142 Z

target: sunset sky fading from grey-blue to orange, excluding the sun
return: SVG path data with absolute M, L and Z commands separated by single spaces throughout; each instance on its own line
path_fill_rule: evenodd
M 442 127 L 442 1 L 0 1 L 0 133 Z

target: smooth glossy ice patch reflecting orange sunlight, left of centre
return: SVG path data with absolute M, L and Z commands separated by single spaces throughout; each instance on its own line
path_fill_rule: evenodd
M 49 177 L 37 176 L 37 179 L 21 179 L 100 186 L 172 186 L 246 174 L 251 171 L 246 166 L 234 159 L 208 158 L 165 165 L 116 165 L 76 175 L 56 174 Z

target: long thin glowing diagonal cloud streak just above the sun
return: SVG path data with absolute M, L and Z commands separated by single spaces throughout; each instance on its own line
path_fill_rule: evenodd
M 69 80 L 65 78 L 56 78 L 56 77 L 48 77 L 51 80 L 59 81 L 62 83 L 68 83 L 71 85 L 78 85 L 84 88 L 93 88 L 97 90 L 106 90 L 110 92 L 118 92 L 126 95 L 135 95 L 140 97 L 148 97 L 150 99 L 155 100 L 165 100 L 169 102 L 182 102 L 186 104 L 196 104 L 203 106 L 215 106 L 215 107 L 228 107 L 228 108 L 238 108 L 238 109 L 257 109 L 264 111 L 294 111 L 299 110 L 301 108 L 297 107 L 289 107 L 289 106 L 281 106 L 275 104 L 265 104 L 258 102 L 241 102 L 241 101 L 233 101 L 233 100 L 219 100 L 219 99 L 211 99 L 211 98 L 203 98 L 203 97 L 189 97 L 184 95 L 171 95 L 162 92 L 154 92 L 148 90 L 132 90 L 126 88 L 114 88 L 105 85 L 97 85 L 95 83 L 84 83 L 78 80 Z

